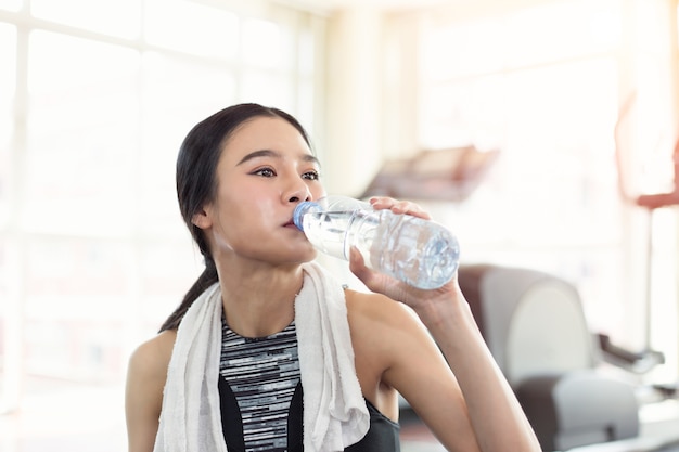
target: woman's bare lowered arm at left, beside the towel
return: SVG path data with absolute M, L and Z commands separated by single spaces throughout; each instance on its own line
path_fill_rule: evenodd
M 129 452 L 153 451 L 175 337 L 174 331 L 163 332 L 130 357 L 125 387 Z

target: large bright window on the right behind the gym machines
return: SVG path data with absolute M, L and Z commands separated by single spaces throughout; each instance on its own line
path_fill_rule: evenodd
M 627 168 L 635 193 L 671 185 L 671 8 L 666 0 L 589 0 L 464 20 L 428 15 L 419 104 L 424 147 L 500 150 L 485 183 L 447 219 L 463 258 L 574 282 L 592 330 L 636 350 L 650 340 L 667 364 L 649 378 L 670 382 L 678 367 L 677 218 L 654 214 L 649 260 L 648 212 L 622 198 L 616 150 L 636 162 Z M 629 99 L 632 112 L 620 117 Z

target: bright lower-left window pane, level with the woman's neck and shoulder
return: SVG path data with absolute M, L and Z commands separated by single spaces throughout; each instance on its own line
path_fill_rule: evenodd
M 117 339 L 129 320 L 121 308 L 133 257 L 116 242 L 33 237 L 25 256 L 27 372 L 100 380 L 121 373 Z

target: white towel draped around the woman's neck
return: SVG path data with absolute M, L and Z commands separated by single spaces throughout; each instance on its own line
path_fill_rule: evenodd
M 370 427 L 356 376 L 342 286 L 315 262 L 304 266 L 295 300 L 304 387 L 306 452 L 344 451 Z M 187 311 L 170 358 L 154 452 L 227 452 L 219 406 L 221 292 L 205 290 Z

